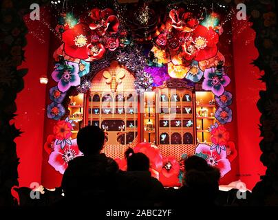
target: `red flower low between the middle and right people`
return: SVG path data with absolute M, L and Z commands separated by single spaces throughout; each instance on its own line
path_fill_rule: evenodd
M 175 160 L 175 157 L 164 157 L 163 166 L 160 171 L 159 180 L 163 186 L 178 186 L 180 173 L 180 164 Z

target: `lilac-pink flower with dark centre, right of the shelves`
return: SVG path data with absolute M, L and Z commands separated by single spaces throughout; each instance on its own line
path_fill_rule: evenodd
M 206 91 L 211 90 L 215 96 L 221 96 L 224 93 L 224 87 L 226 87 L 231 79 L 224 74 L 224 70 L 219 72 L 214 67 L 206 69 L 204 71 L 204 82 L 202 88 Z

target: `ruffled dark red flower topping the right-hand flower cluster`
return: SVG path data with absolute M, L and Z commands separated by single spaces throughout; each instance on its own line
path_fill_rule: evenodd
M 169 13 L 173 28 L 182 32 L 191 32 L 198 25 L 198 20 L 193 18 L 191 12 L 185 12 L 184 8 L 172 9 Z

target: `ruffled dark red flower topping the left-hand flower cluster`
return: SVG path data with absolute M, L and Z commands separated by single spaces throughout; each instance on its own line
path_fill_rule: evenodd
M 93 21 L 89 28 L 96 30 L 100 36 L 105 35 L 105 33 L 114 34 L 118 31 L 120 22 L 116 15 L 114 15 L 113 10 L 109 8 L 105 10 L 94 8 L 91 10 L 90 17 Z

